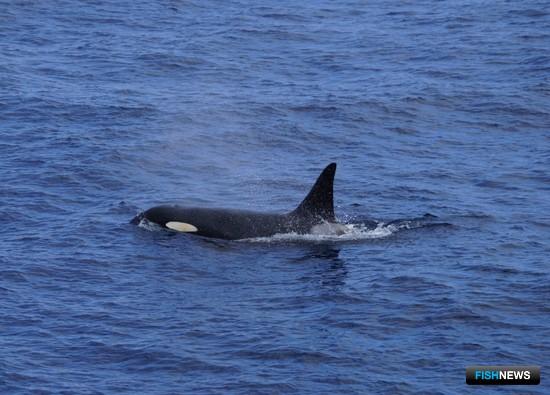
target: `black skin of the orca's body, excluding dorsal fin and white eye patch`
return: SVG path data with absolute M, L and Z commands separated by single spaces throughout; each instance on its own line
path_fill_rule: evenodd
M 180 206 L 157 206 L 140 214 L 132 222 L 142 218 L 166 227 L 171 221 L 185 222 L 198 231 L 190 234 L 226 240 L 268 237 L 277 233 L 308 233 L 322 218 L 304 218 L 293 213 L 268 214 L 245 210 L 209 209 Z

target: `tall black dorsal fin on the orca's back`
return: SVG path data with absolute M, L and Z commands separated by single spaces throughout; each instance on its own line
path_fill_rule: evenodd
M 335 222 L 333 185 L 336 163 L 331 163 L 322 171 L 306 198 L 291 214 L 304 218 L 318 218 Z

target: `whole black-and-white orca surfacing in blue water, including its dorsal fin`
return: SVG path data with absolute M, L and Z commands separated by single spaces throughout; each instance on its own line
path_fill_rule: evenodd
M 226 240 L 281 233 L 307 234 L 317 225 L 336 223 L 333 202 L 335 172 L 336 163 L 329 164 L 305 199 L 289 213 L 162 205 L 138 214 L 131 223 L 139 224 L 146 219 L 176 232 Z

